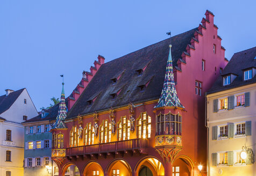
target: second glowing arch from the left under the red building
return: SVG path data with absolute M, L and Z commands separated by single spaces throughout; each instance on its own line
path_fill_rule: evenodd
M 87 162 L 82 170 L 82 175 L 88 175 L 88 172 L 92 173 L 93 171 L 99 171 L 99 176 L 104 176 L 104 170 L 101 166 L 101 164 L 99 164 L 96 160 L 90 160 L 89 162 Z

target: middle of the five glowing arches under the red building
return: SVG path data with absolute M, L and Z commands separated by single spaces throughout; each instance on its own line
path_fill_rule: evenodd
M 112 170 L 119 170 L 120 175 L 132 176 L 132 168 L 130 164 L 122 158 L 113 159 L 106 167 L 105 175 L 111 175 Z

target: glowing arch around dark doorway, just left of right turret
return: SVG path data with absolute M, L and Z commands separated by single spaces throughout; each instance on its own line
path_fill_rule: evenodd
M 138 174 L 140 169 L 145 166 L 150 168 L 153 175 L 165 175 L 165 168 L 163 167 L 162 162 L 157 157 L 146 156 L 140 159 L 134 168 L 134 172 Z

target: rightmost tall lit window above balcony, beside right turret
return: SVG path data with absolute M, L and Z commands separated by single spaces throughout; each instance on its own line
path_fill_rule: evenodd
M 147 113 L 141 113 L 137 119 L 137 136 L 138 138 L 151 137 L 151 117 Z

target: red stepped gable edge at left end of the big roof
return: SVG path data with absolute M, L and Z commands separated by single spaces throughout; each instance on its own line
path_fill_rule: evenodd
M 93 79 L 98 69 L 101 67 L 102 64 L 104 64 L 104 61 L 105 58 L 101 55 L 98 55 L 98 61 L 94 61 L 94 67 L 91 66 L 90 72 L 83 71 L 83 77 L 80 83 L 77 84 L 72 94 L 70 94 L 70 96 L 68 97 L 68 109 L 71 109 L 73 107 L 76 100 L 80 97 L 80 94 L 82 94 L 83 90 L 86 89 L 86 86 L 89 84 L 91 79 Z

